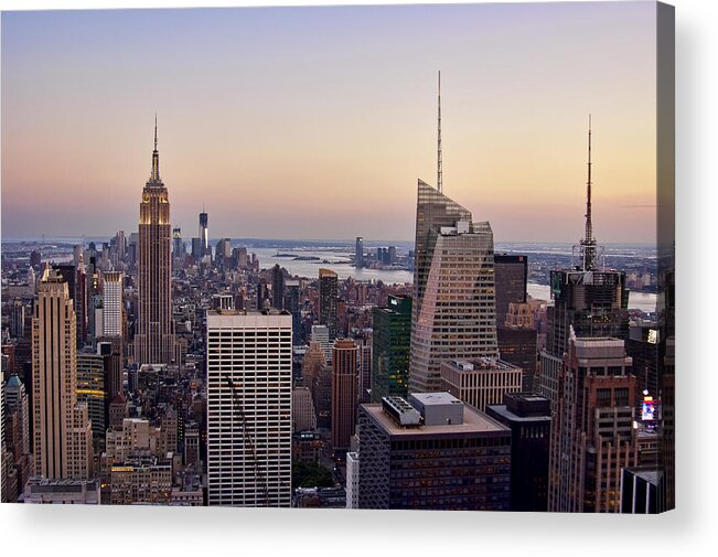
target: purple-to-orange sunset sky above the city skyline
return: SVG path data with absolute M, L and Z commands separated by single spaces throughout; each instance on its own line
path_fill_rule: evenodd
M 2 13 L 2 237 L 137 229 L 154 113 L 190 239 L 414 237 L 416 183 L 496 242 L 655 238 L 653 2 Z

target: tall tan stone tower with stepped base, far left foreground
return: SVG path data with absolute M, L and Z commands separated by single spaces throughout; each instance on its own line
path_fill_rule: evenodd
M 32 319 L 32 405 L 35 474 L 50 480 L 90 472 L 93 431 L 87 406 L 77 404 L 75 326 L 67 283 L 46 268 Z

